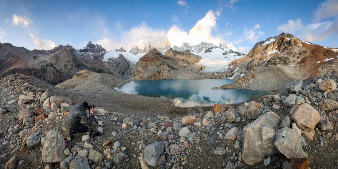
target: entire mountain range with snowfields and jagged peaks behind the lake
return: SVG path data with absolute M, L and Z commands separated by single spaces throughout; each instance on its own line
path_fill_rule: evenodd
M 143 49 L 136 46 L 129 52 L 123 48 L 106 51 L 91 42 L 78 50 L 59 45 L 52 50 L 30 51 L 0 43 L 0 75 L 22 73 L 59 83 L 84 69 L 133 80 L 196 79 L 213 74 L 213 78 L 235 81 L 219 88 L 276 91 L 291 79 L 305 79 L 337 69 L 337 48 L 301 41 L 284 32 L 258 42 L 247 54 L 230 48 L 204 42 L 170 48 L 167 40 L 165 47 L 161 44 L 154 47 L 147 41 Z M 279 85 L 272 85 L 273 89 L 263 85 L 276 82 Z

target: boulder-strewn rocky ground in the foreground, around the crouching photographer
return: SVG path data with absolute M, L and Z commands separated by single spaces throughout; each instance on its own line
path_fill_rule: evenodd
M 193 108 L 116 92 L 126 81 L 111 75 L 80 73 L 58 85 L 66 89 L 6 76 L 0 79 L 0 166 L 336 168 L 337 80 L 325 76 L 295 80 L 257 102 Z M 64 119 L 71 102 L 83 100 L 96 105 L 104 133 L 70 139 Z

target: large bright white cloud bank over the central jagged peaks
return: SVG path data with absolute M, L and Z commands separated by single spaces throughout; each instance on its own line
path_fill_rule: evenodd
M 105 38 L 94 43 L 102 45 L 106 50 L 113 50 L 123 47 L 129 51 L 132 47 L 138 46 L 143 49 L 146 40 L 153 46 L 160 43 L 166 44 L 167 38 L 171 46 L 181 46 L 183 43 L 199 44 L 201 42 L 221 43 L 232 46 L 220 36 L 214 36 L 213 31 L 217 28 L 217 18 L 212 11 L 209 11 L 195 26 L 189 31 L 182 30 L 177 25 L 173 25 L 168 31 L 162 29 L 152 29 L 146 23 L 133 26 L 130 30 L 122 32 L 121 39 Z M 228 34 L 231 32 L 228 32 Z

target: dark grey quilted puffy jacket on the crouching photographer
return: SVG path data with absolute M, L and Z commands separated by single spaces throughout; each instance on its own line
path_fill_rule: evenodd
M 93 114 L 90 114 L 88 117 L 84 110 L 83 104 L 77 103 L 76 105 L 73 105 L 73 107 L 68 112 L 66 116 L 66 124 L 70 128 L 75 128 L 80 123 L 81 119 L 87 122 L 87 124 L 91 124 Z

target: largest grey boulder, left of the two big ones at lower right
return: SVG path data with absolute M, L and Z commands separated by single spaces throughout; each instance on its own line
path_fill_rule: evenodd
M 267 112 L 243 128 L 242 159 L 253 165 L 278 152 L 273 145 L 275 131 L 282 118 L 274 112 Z

